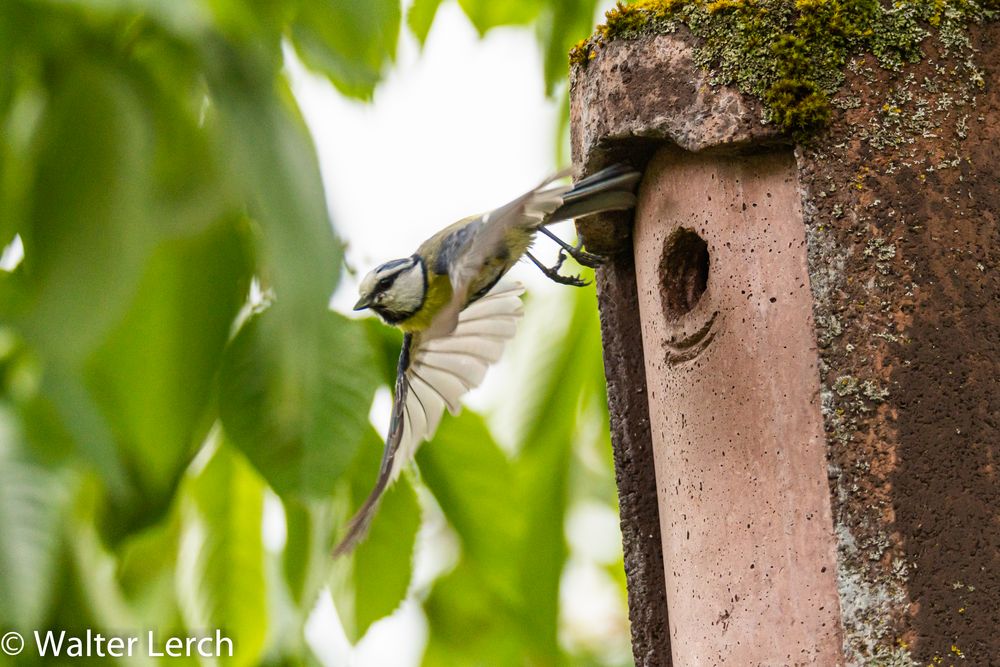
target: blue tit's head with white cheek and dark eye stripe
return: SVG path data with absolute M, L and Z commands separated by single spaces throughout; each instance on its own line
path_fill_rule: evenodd
M 394 259 L 373 269 L 358 288 L 354 310 L 371 308 L 389 324 L 412 317 L 427 296 L 427 272 L 416 255 Z

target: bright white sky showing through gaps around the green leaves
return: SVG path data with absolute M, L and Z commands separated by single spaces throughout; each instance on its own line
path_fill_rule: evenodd
M 290 65 L 295 95 L 316 141 L 334 224 L 350 243 L 348 265 L 362 275 L 381 262 L 410 255 L 438 229 L 503 204 L 565 166 L 554 162 L 559 106 L 544 96 L 541 55 L 531 31 L 496 29 L 480 39 L 457 4 L 445 2 L 422 52 L 405 27 L 403 33 L 397 63 L 372 104 L 348 100 L 325 79 Z M 566 237 L 569 230 L 555 231 Z M 540 254 L 550 260 L 554 247 L 546 243 Z M 530 265 L 514 272 L 536 295 L 567 289 Z M 357 277 L 345 278 L 333 306 L 348 312 L 356 290 Z M 508 373 L 501 369 L 491 372 L 472 405 L 495 403 L 504 376 Z M 388 414 L 388 397 L 383 399 L 374 410 L 381 403 Z M 382 420 L 376 415 L 374 421 Z M 611 516 L 610 529 L 598 532 L 618 539 L 616 523 Z M 427 560 L 433 558 L 418 558 L 418 575 L 425 572 L 420 579 L 435 569 L 420 562 Z M 574 585 L 564 586 L 564 603 L 579 616 L 567 620 L 596 629 L 607 626 L 610 615 L 617 619 L 611 632 L 620 633 L 620 597 L 606 590 L 606 582 L 594 584 L 588 573 L 593 568 L 572 564 L 567 571 Z M 426 632 L 419 605 L 410 600 L 352 648 L 326 596 L 310 619 L 307 637 L 328 665 L 415 667 Z

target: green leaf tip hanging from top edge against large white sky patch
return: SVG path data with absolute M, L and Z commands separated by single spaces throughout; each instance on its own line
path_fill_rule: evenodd
M 340 92 L 370 100 L 396 57 L 400 14 L 399 0 L 303 0 L 292 41 L 302 61 Z

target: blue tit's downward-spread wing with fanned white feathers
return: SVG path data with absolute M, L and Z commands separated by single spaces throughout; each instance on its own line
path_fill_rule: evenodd
M 382 494 L 420 444 L 433 437 L 445 408 L 457 414 L 461 397 L 478 387 L 486 369 L 500 358 L 521 318 L 523 293 L 524 287 L 517 283 L 497 285 L 459 313 L 451 334 L 403 337 L 392 419 L 375 488 L 348 524 L 335 556 L 349 552 L 364 538 Z

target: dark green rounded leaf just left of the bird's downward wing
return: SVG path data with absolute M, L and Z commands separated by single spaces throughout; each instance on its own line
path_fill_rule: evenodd
M 327 312 L 312 373 L 283 382 L 270 308 L 230 343 L 220 413 L 232 442 L 280 494 L 322 497 L 350 467 L 370 430 L 375 355 L 359 322 Z

